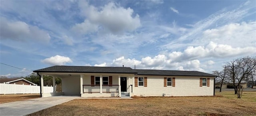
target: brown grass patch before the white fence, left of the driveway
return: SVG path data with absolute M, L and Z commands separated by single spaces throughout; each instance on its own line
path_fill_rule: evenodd
M 39 98 L 40 94 L 0 94 L 0 104 Z

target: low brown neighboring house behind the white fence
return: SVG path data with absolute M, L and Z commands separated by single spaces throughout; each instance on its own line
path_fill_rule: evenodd
M 36 85 L 26 79 L 23 78 L 7 78 L 7 79 L 0 79 L 0 83 L 6 84 L 18 84 L 18 85 Z

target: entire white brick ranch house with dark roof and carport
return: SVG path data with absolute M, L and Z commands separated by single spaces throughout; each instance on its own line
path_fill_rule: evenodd
M 60 77 L 62 92 L 55 95 L 82 97 L 212 96 L 217 75 L 198 71 L 131 69 L 130 67 L 52 66 L 35 70 L 40 75 Z

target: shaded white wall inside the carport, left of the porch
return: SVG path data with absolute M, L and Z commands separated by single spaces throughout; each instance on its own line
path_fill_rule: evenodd
M 62 78 L 62 92 L 67 95 L 80 95 L 80 75 Z

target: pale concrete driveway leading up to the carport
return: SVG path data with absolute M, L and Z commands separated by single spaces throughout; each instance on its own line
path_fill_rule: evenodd
M 0 104 L 0 116 L 24 116 L 76 98 L 80 96 L 51 96 L 4 103 Z

